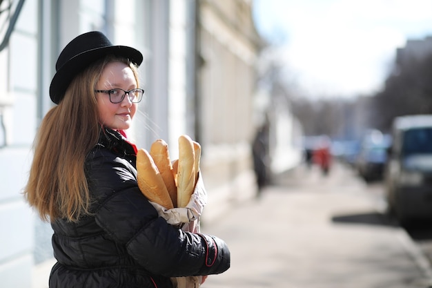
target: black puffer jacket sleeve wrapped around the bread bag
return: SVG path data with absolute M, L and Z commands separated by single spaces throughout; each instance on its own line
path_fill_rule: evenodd
M 215 237 L 181 231 L 168 224 L 139 191 L 135 168 L 115 155 L 92 161 L 88 179 L 95 195 L 97 224 L 132 258 L 158 275 L 217 274 L 230 267 L 226 243 Z

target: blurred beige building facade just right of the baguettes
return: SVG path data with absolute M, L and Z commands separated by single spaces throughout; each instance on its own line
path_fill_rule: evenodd
M 208 190 L 204 222 L 255 195 L 251 141 L 258 37 L 251 1 L 199 1 L 198 120 Z

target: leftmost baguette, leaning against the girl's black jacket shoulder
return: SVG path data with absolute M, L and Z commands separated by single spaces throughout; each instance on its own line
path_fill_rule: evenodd
M 161 173 L 148 151 L 139 149 L 137 151 L 137 182 L 141 193 L 148 200 L 156 202 L 166 209 L 173 209 L 173 201 L 166 189 Z

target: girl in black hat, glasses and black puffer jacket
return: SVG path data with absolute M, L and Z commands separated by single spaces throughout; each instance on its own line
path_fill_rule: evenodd
M 50 288 L 169 288 L 173 278 L 230 267 L 222 239 L 168 224 L 139 190 L 137 148 L 123 131 L 144 96 L 142 60 L 97 31 L 59 55 L 50 86 L 57 106 L 37 132 L 24 190 L 54 230 Z

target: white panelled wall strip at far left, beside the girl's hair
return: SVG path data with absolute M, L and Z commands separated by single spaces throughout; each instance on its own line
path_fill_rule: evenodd
M 30 145 L 36 127 L 37 8 L 37 1 L 24 4 L 8 46 L 0 51 L 2 287 L 24 288 L 31 284 L 34 220 L 23 202 L 21 189 L 32 159 Z

